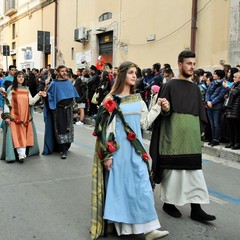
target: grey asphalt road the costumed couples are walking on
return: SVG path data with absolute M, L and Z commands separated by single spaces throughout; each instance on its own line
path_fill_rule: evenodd
M 44 124 L 35 114 L 40 149 Z M 68 158 L 59 154 L 35 156 L 24 164 L 0 161 L 0 240 L 89 240 L 91 167 L 95 138 L 88 125 L 75 126 L 75 141 Z M 0 132 L 0 145 L 2 133 Z M 148 148 L 149 141 L 145 141 Z M 183 216 L 173 219 L 162 211 L 159 186 L 154 195 L 167 240 L 240 239 L 240 164 L 204 155 L 203 171 L 211 203 L 203 206 L 217 220 L 203 224 L 189 218 L 189 205 L 179 207 Z M 144 239 L 144 236 L 102 239 Z

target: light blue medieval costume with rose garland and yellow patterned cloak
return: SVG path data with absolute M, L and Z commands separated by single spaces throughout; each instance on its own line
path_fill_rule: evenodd
M 107 222 L 114 223 L 118 235 L 148 233 L 160 227 L 141 134 L 141 127 L 147 129 L 160 111 L 156 104 L 148 112 L 140 94 L 113 96 L 100 106 L 93 134 L 97 140 L 92 169 L 92 239 L 106 233 Z M 103 162 L 109 158 L 113 167 L 106 170 Z

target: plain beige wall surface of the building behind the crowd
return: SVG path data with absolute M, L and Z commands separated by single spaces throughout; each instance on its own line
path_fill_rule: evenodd
M 198 1 L 197 67 L 213 69 L 221 67 L 220 60 L 229 62 L 230 7 L 231 3 L 236 1 Z M 112 19 L 98 22 L 99 16 L 105 12 L 111 12 Z M 130 60 L 141 68 L 151 67 L 153 63 L 160 62 L 170 63 L 175 69 L 178 53 L 190 48 L 191 14 L 192 0 L 58 1 L 56 65 L 65 64 L 75 70 L 76 55 L 88 50 L 91 51 L 91 63 L 95 64 L 98 56 L 97 35 L 100 33 L 96 28 L 105 27 L 106 31 L 113 31 L 114 35 L 114 66 Z M 54 19 L 55 3 L 33 12 L 31 17 L 21 18 L 16 23 L 18 46 L 22 47 L 29 43 L 36 45 L 37 30 L 50 31 L 51 43 L 54 45 Z M 86 27 L 89 30 L 88 42 L 83 44 L 74 41 L 74 29 L 78 27 Z M 11 27 L 5 26 L 0 31 L 3 43 L 11 41 Z M 147 42 L 147 36 L 151 34 L 155 34 L 156 39 Z M 52 46 L 52 63 L 54 50 Z M 39 61 L 38 65 L 42 67 L 41 53 L 34 53 L 34 56 L 36 56 L 34 61 Z

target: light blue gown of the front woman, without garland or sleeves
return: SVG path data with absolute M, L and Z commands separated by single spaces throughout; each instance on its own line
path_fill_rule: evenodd
M 142 142 L 140 99 L 136 95 L 122 97 L 120 108 L 126 122 Z M 113 154 L 113 166 L 109 171 L 104 219 L 127 224 L 153 221 L 158 216 L 146 163 L 127 140 L 118 117 L 115 134 L 120 148 Z

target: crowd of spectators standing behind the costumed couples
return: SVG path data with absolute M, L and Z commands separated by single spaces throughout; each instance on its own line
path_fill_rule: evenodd
M 118 71 L 117 67 L 105 63 L 102 56 L 98 57 L 95 65 L 89 66 L 86 62 L 83 64 L 84 67 L 76 72 L 68 68 L 68 78 L 80 96 L 74 108 L 76 125 L 83 125 L 85 116 L 96 116 L 99 106 L 115 82 Z M 151 68 L 138 67 L 137 70 L 136 92 L 141 94 L 150 109 L 162 84 L 174 78 L 174 72 L 168 63 L 162 67 L 160 63 L 154 63 Z M 27 68 L 23 71 L 32 96 L 46 90 L 52 79 L 56 78 L 55 70 L 50 64 L 40 70 Z M 0 69 L 0 84 L 6 75 L 7 73 Z M 191 81 L 199 86 L 209 120 L 202 140 L 213 147 L 226 143 L 226 148 L 240 149 L 240 66 L 231 67 L 225 64 L 222 69 L 213 72 L 196 69 Z M 37 107 L 43 107 L 41 100 Z

